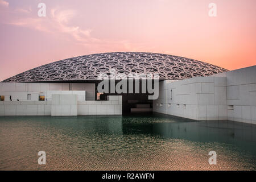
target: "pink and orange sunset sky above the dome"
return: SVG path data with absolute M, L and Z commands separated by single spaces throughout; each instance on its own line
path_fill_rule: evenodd
M 40 2 L 46 17 L 38 16 Z M 0 0 L 0 81 L 52 61 L 117 51 L 249 67 L 256 63 L 255 8 L 255 0 Z

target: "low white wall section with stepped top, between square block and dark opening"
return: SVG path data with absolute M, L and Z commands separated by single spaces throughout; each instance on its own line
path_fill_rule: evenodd
M 109 101 L 78 101 L 78 115 L 120 115 L 122 96 L 109 96 Z

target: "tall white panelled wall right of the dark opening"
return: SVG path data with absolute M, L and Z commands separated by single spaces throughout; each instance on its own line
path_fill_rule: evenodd
M 228 119 L 256 124 L 256 66 L 160 82 L 153 111 L 196 120 Z

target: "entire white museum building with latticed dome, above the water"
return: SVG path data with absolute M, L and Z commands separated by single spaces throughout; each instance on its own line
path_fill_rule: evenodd
M 159 96 L 98 92 L 98 75 L 159 75 Z M 115 82 L 117 84 L 118 81 Z M 72 57 L 0 82 L 0 116 L 122 115 L 156 112 L 195 120 L 256 124 L 256 65 L 228 71 L 185 57 L 112 52 Z

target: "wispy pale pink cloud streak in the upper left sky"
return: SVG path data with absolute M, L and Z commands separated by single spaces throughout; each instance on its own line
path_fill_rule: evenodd
M 3 1 L 3 0 L 0 0 Z M 123 49 L 133 49 L 134 51 L 142 44 L 134 45 L 129 40 L 108 40 L 98 39 L 92 36 L 91 28 L 81 28 L 72 26 L 72 19 L 76 16 L 76 11 L 72 9 L 51 9 L 46 17 L 35 17 L 31 14 L 31 9 L 14 9 L 10 10 L 9 18 L 4 22 L 14 26 L 32 28 L 37 31 L 47 32 L 55 36 L 61 36 L 64 39 L 71 39 L 75 44 L 90 46 L 94 48 L 115 47 Z M 15 15 L 15 16 L 14 16 Z M 22 18 L 16 18 L 16 17 Z M 25 18 L 26 17 L 26 18 Z M 63 35 L 61 35 L 63 34 Z

